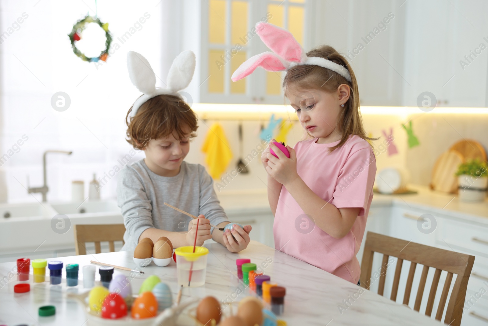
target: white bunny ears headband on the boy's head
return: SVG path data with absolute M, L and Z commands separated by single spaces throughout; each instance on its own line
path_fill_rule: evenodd
M 188 87 L 195 71 L 195 54 L 192 51 L 180 53 L 169 67 L 166 88 L 156 88 L 156 75 L 149 62 L 140 53 L 127 52 L 127 69 L 132 84 L 143 95 L 134 102 L 131 116 L 135 116 L 137 110 L 147 100 L 163 94 L 181 96 L 179 91 Z

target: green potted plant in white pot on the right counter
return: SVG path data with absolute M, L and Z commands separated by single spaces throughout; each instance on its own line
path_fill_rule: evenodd
M 485 200 L 488 188 L 488 166 L 478 158 L 459 165 L 456 172 L 459 184 L 459 199 L 464 201 Z

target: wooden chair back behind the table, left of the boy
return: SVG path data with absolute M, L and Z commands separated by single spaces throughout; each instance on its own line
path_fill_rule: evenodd
M 76 224 L 74 229 L 77 255 L 86 255 L 86 242 L 95 242 L 95 253 L 100 254 L 100 242 L 108 241 L 110 252 L 114 252 L 114 241 L 123 243 L 125 233 L 123 224 Z

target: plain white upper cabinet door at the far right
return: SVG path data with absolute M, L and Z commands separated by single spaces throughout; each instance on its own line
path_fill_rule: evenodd
M 486 107 L 488 2 L 408 1 L 403 105 L 429 91 L 443 107 Z M 426 19 L 428 17 L 428 19 Z

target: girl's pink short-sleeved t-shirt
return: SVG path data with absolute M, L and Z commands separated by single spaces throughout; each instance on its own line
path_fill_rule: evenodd
M 318 138 L 295 145 L 297 173 L 319 197 L 337 208 L 360 207 L 349 233 L 335 239 L 317 227 L 282 187 L 273 224 L 275 248 L 349 282 L 358 283 L 361 269 L 356 254 L 373 199 L 376 158 L 369 143 L 357 135 L 339 144 L 317 144 Z M 314 217 L 326 218 L 326 217 Z M 312 222 L 311 222 L 312 221 Z

